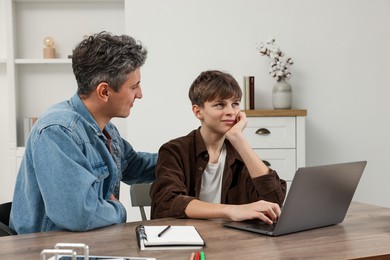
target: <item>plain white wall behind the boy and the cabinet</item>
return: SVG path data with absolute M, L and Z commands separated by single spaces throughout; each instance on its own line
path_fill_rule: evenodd
M 207 69 L 256 76 L 256 107 L 270 108 L 274 80 L 255 44 L 273 36 L 295 60 L 307 165 L 367 160 L 355 200 L 390 207 L 389 13 L 388 0 L 126 1 L 126 31 L 149 49 L 128 138 L 156 151 L 195 128 L 187 91 Z

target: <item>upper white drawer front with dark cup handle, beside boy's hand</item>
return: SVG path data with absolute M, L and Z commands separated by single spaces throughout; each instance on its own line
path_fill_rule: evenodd
M 252 148 L 295 148 L 295 117 L 249 117 L 244 130 Z

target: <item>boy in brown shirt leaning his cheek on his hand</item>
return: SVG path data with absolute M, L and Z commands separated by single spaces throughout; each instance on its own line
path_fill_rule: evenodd
M 237 81 L 220 71 L 202 72 L 192 83 L 189 98 L 201 126 L 160 148 L 152 218 L 278 219 L 286 182 L 245 139 L 241 96 Z

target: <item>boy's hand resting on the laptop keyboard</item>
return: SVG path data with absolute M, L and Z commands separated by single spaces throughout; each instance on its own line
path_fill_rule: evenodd
M 280 207 L 277 203 L 268 202 L 265 200 L 234 206 L 237 208 L 233 208 L 230 214 L 230 219 L 233 221 L 258 218 L 272 225 L 278 220 L 281 213 Z

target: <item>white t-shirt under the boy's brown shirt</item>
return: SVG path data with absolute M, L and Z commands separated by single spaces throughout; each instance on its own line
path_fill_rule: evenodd
M 223 145 L 217 163 L 208 163 L 202 174 L 199 199 L 210 203 L 221 203 L 222 176 L 225 168 L 226 147 Z

